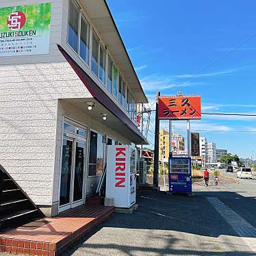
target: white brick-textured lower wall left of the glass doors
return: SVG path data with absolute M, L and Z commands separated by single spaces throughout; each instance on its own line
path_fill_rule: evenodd
M 0 66 L 0 164 L 37 204 L 52 202 L 57 99 L 88 97 L 67 62 Z

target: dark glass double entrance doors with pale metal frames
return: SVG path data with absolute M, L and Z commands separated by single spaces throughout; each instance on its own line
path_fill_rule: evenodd
M 83 204 L 85 150 L 86 142 L 64 137 L 60 178 L 60 212 Z

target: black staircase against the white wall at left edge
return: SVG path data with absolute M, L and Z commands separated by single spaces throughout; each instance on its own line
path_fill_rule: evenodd
M 40 209 L 0 165 L 0 230 L 42 218 Z

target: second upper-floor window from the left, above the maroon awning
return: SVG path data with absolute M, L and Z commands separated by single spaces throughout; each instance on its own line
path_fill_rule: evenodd
M 81 17 L 80 56 L 87 64 L 89 62 L 89 38 L 90 26 L 83 15 Z

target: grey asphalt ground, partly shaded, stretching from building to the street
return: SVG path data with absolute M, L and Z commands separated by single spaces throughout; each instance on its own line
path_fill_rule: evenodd
M 249 183 L 250 182 L 250 183 Z M 256 179 L 220 173 L 194 196 L 138 192 L 133 214 L 114 214 L 64 255 L 256 255 Z

